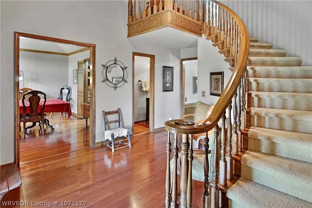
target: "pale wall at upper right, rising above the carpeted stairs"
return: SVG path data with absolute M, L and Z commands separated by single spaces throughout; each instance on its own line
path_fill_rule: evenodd
M 245 22 L 251 38 L 286 49 L 312 65 L 311 0 L 221 0 Z

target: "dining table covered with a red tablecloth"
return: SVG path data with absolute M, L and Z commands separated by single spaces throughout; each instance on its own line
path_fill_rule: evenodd
M 41 99 L 39 102 L 39 109 L 41 108 L 42 104 L 43 104 L 44 100 Z M 26 113 L 30 113 L 30 106 L 29 106 L 29 101 L 25 100 L 25 107 L 26 107 Z M 70 117 L 72 115 L 72 110 L 70 107 L 70 103 L 66 102 L 64 100 L 61 100 L 59 98 L 48 98 L 46 99 L 44 108 L 43 108 L 43 112 L 44 113 L 54 113 L 54 112 L 65 112 L 68 114 L 68 117 Z M 24 113 L 24 108 L 23 108 L 23 103 L 20 100 L 20 114 Z M 50 121 L 47 118 L 44 118 L 44 123 L 46 125 L 47 128 L 50 128 L 51 131 L 54 131 L 54 127 L 52 125 L 50 125 Z M 33 128 L 36 126 L 36 123 L 33 123 L 31 126 L 27 127 L 27 129 Z

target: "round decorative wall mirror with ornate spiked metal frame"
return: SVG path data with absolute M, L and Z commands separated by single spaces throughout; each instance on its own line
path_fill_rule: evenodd
M 121 61 L 118 61 L 115 57 L 114 60 L 109 60 L 105 64 L 102 64 L 102 81 L 109 87 L 117 90 L 118 87 L 124 85 L 127 82 L 127 68 Z

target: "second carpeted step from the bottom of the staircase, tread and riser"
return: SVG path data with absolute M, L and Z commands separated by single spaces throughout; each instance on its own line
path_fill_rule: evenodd
M 312 203 L 312 163 L 248 150 L 241 177 Z

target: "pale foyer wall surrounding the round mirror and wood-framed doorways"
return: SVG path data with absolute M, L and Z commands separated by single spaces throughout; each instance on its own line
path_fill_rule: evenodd
M 173 118 L 179 117 L 177 106 L 179 106 L 180 50 L 148 42 L 135 42 L 127 38 L 128 1 L 1 0 L 0 9 L 0 129 L 6 130 L 0 132 L 0 164 L 14 161 L 15 31 L 96 44 L 96 80 L 94 81 L 97 142 L 103 140 L 102 110 L 108 111 L 120 107 L 124 126 L 132 129 L 133 52 L 156 56 L 155 128 L 164 126 L 168 114 L 172 114 Z M 128 67 L 129 75 L 128 82 L 117 91 L 102 83 L 100 76 L 101 64 L 115 57 Z M 162 66 L 164 65 L 174 67 L 173 92 L 162 92 Z

